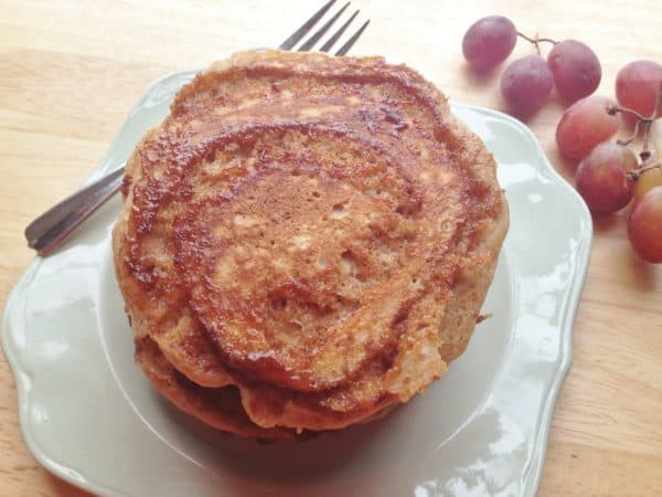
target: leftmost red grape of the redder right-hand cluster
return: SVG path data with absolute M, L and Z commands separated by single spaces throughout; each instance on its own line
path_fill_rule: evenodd
M 618 131 L 618 115 L 607 109 L 615 103 L 604 96 L 591 95 L 570 105 L 556 127 L 556 145 L 570 159 L 584 159 L 592 148 Z

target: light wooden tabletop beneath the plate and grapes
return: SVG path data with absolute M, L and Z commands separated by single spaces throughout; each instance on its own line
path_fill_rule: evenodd
M 233 51 L 276 45 L 320 1 L 0 1 L 0 299 L 34 257 L 23 229 L 71 193 L 104 156 L 140 94 L 160 76 Z M 589 44 L 599 93 L 637 59 L 662 62 L 662 2 L 502 0 L 354 2 L 372 24 L 354 54 L 406 62 L 452 99 L 501 109 L 498 75 L 472 76 L 461 39 L 502 13 L 521 31 Z M 599 6 L 599 7 L 596 7 Z M 498 9 L 498 11 L 495 11 Z M 532 53 L 519 43 L 515 54 Z M 528 125 L 555 167 L 563 107 L 553 96 Z M 574 362 L 554 413 L 542 496 L 662 495 L 662 266 L 633 256 L 622 214 L 596 221 L 574 335 Z M 75 435 L 73 435 L 75 436 Z M 0 359 L 0 495 L 87 495 L 40 467 L 19 430 Z

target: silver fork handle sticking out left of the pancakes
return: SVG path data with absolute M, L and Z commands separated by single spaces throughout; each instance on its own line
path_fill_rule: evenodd
M 119 190 L 124 167 L 78 190 L 32 221 L 25 229 L 28 246 L 47 255 Z

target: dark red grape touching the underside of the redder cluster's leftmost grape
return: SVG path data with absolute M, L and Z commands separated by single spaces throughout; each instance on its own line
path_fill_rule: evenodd
M 595 214 L 609 214 L 624 208 L 634 193 L 627 172 L 637 167 L 637 156 L 628 147 L 605 141 L 591 150 L 577 168 L 577 191 Z

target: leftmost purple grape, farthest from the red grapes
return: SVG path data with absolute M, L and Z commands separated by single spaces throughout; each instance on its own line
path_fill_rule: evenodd
M 490 15 L 476 21 L 462 40 L 462 53 L 476 71 L 489 71 L 508 57 L 517 34 L 510 19 Z

